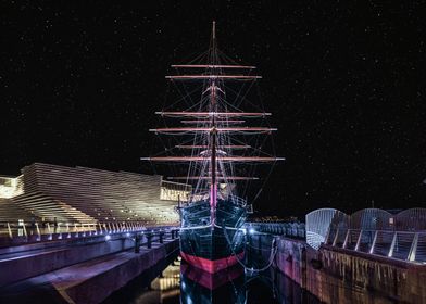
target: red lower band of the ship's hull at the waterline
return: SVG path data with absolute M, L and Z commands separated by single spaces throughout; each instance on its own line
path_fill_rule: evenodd
M 180 256 L 185 258 L 186 262 L 191 264 L 192 266 L 203 269 L 210 274 L 215 274 L 222 269 L 228 268 L 238 263 L 238 258 L 241 259 L 245 255 L 243 252 L 237 254 L 237 256 L 231 255 L 227 257 L 223 257 L 220 259 L 208 259 L 195 255 L 187 254 L 185 252 L 180 252 Z

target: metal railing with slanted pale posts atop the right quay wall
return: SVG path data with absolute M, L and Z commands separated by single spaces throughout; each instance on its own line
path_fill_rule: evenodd
M 330 229 L 325 244 L 405 262 L 426 263 L 426 230 Z

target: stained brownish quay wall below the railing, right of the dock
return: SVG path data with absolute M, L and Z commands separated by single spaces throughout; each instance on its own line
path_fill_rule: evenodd
M 325 303 L 426 303 L 426 265 L 277 238 L 276 267 Z

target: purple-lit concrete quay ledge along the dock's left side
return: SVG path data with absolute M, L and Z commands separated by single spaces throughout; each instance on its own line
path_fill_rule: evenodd
M 46 303 L 99 303 L 158 263 L 176 257 L 178 248 L 178 240 L 166 240 L 140 253 L 125 251 L 64 267 L 0 288 L 0 303 L 30 303 L 41 294 Z

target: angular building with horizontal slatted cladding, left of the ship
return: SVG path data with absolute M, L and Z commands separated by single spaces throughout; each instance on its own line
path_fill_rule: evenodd
M 191 188 L 159 175 L 34 163 L 18 177 L 0 176 L 0 223 L 178 223 L 177 202 Z

